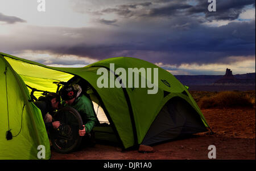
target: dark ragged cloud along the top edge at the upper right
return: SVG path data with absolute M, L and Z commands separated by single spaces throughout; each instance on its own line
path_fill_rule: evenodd
M 207 0 L 195 0 L 195 5 L 191 5 L 191 1 L 154 1 L 144 3 L 131 3 L 118 5 L 114 8 L 106 8 L 100 11 L 104 13 L 114 13 L 126 18 L 163 18 L 176 16 L 192 16 L 195 14 L 204 14 L 204 22 L 212 20 L 235 20 L 244 11 L 247 5 L 255 6 L 255 0 L 225 0 L 216 1 L 216 12 L 209 12 L 209 2 Z M 154 5 L 154 6 L 153 6 Z M 138 6 L 142 8 L 137 11 Z

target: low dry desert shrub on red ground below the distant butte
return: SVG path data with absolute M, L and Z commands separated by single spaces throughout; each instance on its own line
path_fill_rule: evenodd
M 201 98 L 198 105 L 201 109 L 208 108 L 234 108 L 234 107 L 245 107 L 253 106 L 255 99 L 251 99 L 250 96 L 245 95 L 241 92 L 225 91 L 219 92 L 214 96 L 205 96 Z

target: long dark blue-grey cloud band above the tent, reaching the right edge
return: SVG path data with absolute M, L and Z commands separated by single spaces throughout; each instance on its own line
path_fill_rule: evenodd
M 184 62 L 225 62 L 229 56 L 255 55 L 255 20 L 229 23 L 218 28 L 195 24 L 183 31 L 178 28 L 161 33 L 117 31 L 110 35 L 115 38 L 105 37 L 108 44 L 80 44 L 64 52 L 97 59 L 130 56 L 177 65 Z M 55 53 L 60 51 L 53 50 Z

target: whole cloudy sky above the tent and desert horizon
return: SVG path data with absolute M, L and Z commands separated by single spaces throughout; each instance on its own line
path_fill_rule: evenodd
M 0 52 L 50 66 L 111 57 L 174 75 L 255 72 L 255 0 L 0 0 Z

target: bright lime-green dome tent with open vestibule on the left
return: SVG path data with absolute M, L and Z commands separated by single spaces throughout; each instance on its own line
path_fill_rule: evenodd
M 187 88 L 170 72 L 150 62 L 117 57 L 85 67 L 64 68 L 45 66 L 5 53 L 0 53 L 0 57 L 0 159 L 38 159 L 39 145 L 46 147 L 46 159 L 51 157 L 42 114 L 32 103 L 30 95 L 31 88 L 56 92 L 59 87 L 53 82 L 80 84 L 83 92 L 96 104 L 96 115 L 100 108 L 109 123 L 94 128 L 96 139 L 119 142 L 125 149 L 204 132 L 209 127 Z M 111 76 L 114 71 L 110 70 L 110 63 L 127 73 L 129 68 L 157 68 L 158 92 L 148 94 L 148 88 L 136 87 L 99 88 L 98 69 L 108 70 L 109 82 L 118 77 Z M 143 77 L 142 72 L 133 74 L 139 80 Z M 118 81 L 122 83 L 122 80 Z M 39 97 L 41 93 L 34 92 L 33 95 Z M 6 139 L 8 130 L 13 134 L 11 140 Z

